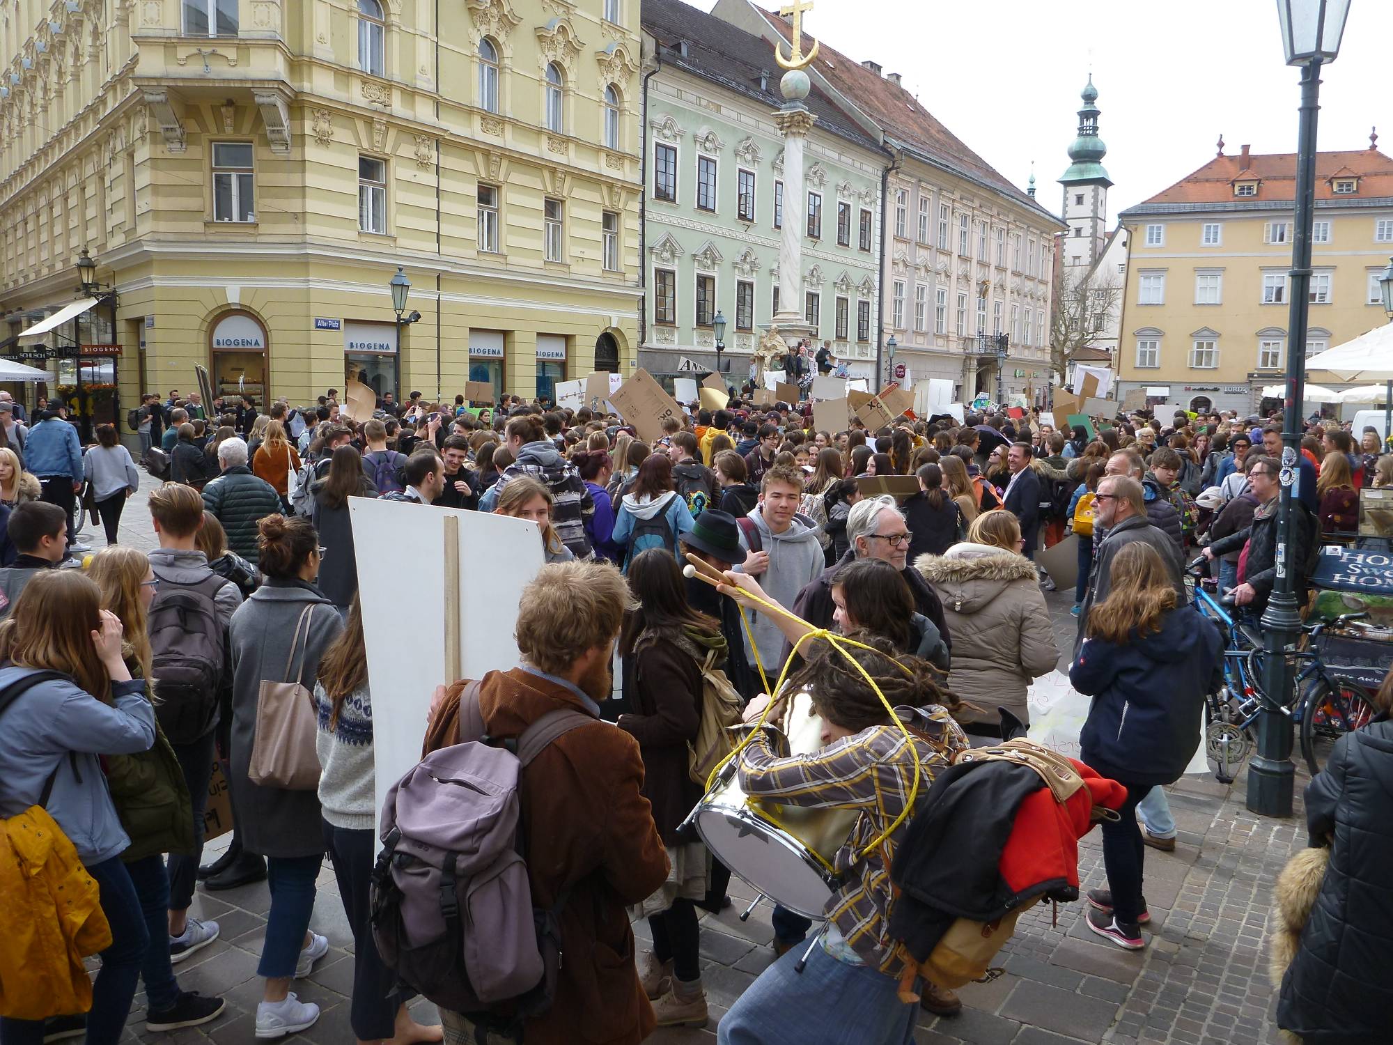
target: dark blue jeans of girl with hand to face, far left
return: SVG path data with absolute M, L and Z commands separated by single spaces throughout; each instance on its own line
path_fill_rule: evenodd
M 102 952 L 102 971 L 92 985 L 86 1041 L 88 1045 L 117 1045 L 131 1014 L 149 934 L 141 900 L 120 857 L 92 864 L 86 872 L 96 879 L 102 914 L 111 927 L 111 946 Z M 43 1021 L 0 1019 L 0 1041 L 4 1045 L 40 1045 Z

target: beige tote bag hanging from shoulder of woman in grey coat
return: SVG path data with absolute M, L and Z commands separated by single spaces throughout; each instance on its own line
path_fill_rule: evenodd
M 262 787 L 313 791 L 319 787 L 319 755 L 315 752 L 315 701 L 299 676 L 305 670 L 305 645 L 315 603 L 299 613 L 286 662 L 286 681 L 262 681 L 256 694 L 256 736 L 248 776 Z M 299 667 L 295 667 L 295 649 Z

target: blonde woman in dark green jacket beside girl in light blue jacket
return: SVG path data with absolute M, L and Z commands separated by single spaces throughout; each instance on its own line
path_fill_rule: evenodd
M 127 670 L 132 679 L 148 683 L 153 659 L 148 616 L 157 589 L 149 559 L 134 548 L 103 548 L 92 556 L 88 575 L 102 589 L 102 609 L 114 613 L 121 621 Z M 149 686 L 145 697 L 152 697 Z M 223 999 L 181 991 L 171 964 L 170 879 L 164 854 L 194 856 L 198 837 L 188 782 L 159 725 L 159 716 L 156 715 L 155 744 L 149 751 L 107 755 L 103 762 L 111 801 L 131 839 L 130 849 L 121 854 L 121 862 L 125 864 L 145 915 L 148 943 L 141 977 L 148 999 L 146 1028 L 170 1031 L 209 1023 L 223 1012 Z M 196 939 L 198 945 L 181 950 L 181 959 L 208 946 L 219 935 L 215 921 L 189 917 L 187 922 L 184 935 Z

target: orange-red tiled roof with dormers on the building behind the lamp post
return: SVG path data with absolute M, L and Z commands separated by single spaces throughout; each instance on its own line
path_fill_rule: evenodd
M 1170 188 L 1158 192 L 1141 203 L 1231 203 L 1254 199 L 1295 199 L 1297 156 L 1294 152 L 1275 152 L 1262 156 L 1250 155 L 1247 167 L 1243 156 L 1216 156 L 1194 174 L 1188 174 Z M 1332 178 L 1358 177 L 1360 192 L 1355 199 L 1369 196 L 1393 196 L 1393 159 L 1376 149 L 1358 152 L 1322 152 L 1315 162 L 1315 198 L 1350 199 L 1348 194 L 1336 196 Z M 1259 180 L 1258 195 L 1236 198 L 1233 183 Z

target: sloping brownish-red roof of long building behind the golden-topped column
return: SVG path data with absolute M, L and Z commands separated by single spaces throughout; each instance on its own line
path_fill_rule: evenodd
M 786 40 L 793 39 L 793 29 L 788 20 L 763 8 L 756 10 L 769 20 L 769 24 Z M 804 36 L 807 38 L 808 33 L 804 33 Z M 805 39 L 805 53 L 811 46 L 811 39 Z M 892 138 L 925 152 L 950 170 L 961 171 L 1011 196 L 1020 203 L 1049 215 L 1036 199 L 1017 188 L 997 173 L 992 164 L 964 145 L 957 135 L 939 123 L 903 86 L 885 79 L 879 72 L 833 50 L 827 46 L 826 40 L 822 40 L 822 49 L 818 52 L 812 67 L 826 77 L 837 91 L 851 99 L 862 113 L 880 124 Z M 1049 217 L 1059 222 L 1053 215 L 1049 215 Z

